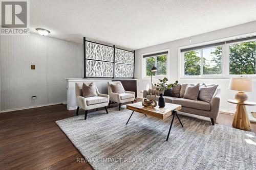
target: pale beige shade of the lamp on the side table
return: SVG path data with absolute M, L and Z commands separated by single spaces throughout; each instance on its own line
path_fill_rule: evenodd
M 230 90 L 252 91 L 252 80 L 248 78 L 231 78 L 229 83 Z

